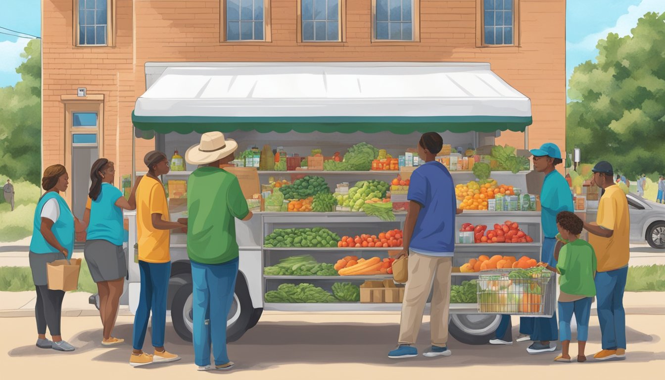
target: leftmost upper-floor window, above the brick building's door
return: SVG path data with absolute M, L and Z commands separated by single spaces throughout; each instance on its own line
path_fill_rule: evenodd
M 77 46 L 112 46 L 112 0 L 74 0 L 74 41 Z

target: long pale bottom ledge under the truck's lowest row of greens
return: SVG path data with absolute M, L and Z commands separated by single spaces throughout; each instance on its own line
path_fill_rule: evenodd
M 402 303 L 263 303 L 263 310 L 268 311 L 394 311 L 402 310 Z M 456 313 L 477 313 L 477 303 L 451 303 L 450 310 Z M 430 303 L 425 306 L 425 313 L 430 313 Z

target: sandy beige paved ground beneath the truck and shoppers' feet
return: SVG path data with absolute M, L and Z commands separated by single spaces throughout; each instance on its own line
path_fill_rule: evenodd
M 231 373 L 199 373 L 194 367 L 190 344 L 167 326 L 166 347 L 183 359 L 168 365 L 131 368 L 130 344 L 106 348 L 100 345 L 98 317 L 63 318 L 63 335 L 78 347 L 73 353 L 58 353 L 34 346 L 35 326 L 31 317 L 0 318 L 3 377 L 29 375 L 30 379 L 95 377 L 97 379 L 209 378 L 234 379 L 407 379 L 409 377 L 458 377 L 462 379 L 582 379 L 612 375 L 654 374 L 665 366 L 665 325 L 662 316 L 628 316 L 628 355 L 612 363 L 554 363 L 555 355 L 527 355 L 526 343 L 511 347 L 470 346 L 451 339 L 452 357 L 417 357 L 393 361 L 386 357 L 398 333 L 399 315 L 319 314 L 265 315 L 239 341 L 229 345 L 236 363 Z M 427 321 L 427 319 L 426 319 Z M 130 338 L 132 318 L 119 317 L 114 335 Z M 600 348 L 597 319 L 591 319 L 587 353 Z M 418 348 L 428 345 L 428 323 L 424 323 Z M 149 334 L 148 334 L 149 336 Z M 146 344 L 146 348 L 149 346 Z M 577 347 L 571 350 L 574 355 Z M 534 371 L 538 371 L 535 373 Z M 61 374 L 61 375 L 58 375 Z M 79 375 L 80 374 L 80 375 Z

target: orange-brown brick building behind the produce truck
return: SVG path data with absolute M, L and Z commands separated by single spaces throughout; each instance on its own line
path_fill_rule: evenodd
M 531 99 L 529 145 L 565 146 L 565 0 L 43 0 L 42 30 L 43 166 L 72 176 L 98 156 L 131 172 L 150 62 L 490 63 Z

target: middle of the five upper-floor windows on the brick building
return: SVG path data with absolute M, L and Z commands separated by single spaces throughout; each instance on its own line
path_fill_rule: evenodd
M 340 0 L 299 0 L 303 42 L 342 41 Z

